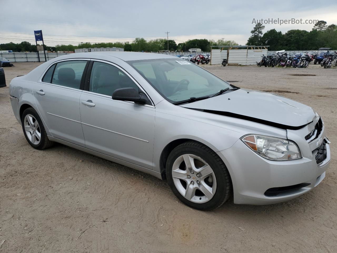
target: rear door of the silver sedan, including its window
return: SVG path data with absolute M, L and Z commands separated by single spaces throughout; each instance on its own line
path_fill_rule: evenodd
M 53 137 L 84 146 L 80 95 L 88 60 L 52 65 L 33 89 L 37 108 Z

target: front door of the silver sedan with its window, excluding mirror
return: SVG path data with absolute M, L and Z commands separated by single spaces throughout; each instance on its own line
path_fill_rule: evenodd
M 139 89 L 121 68 L 94 61 L 89 91 L 80 97 L 86 148 L 152 169 L 155 109 L 112 99 L 115 89 Z

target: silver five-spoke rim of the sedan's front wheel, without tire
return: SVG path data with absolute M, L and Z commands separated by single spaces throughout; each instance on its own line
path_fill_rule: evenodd
M 216 191 L 211 166 L 194 154 L 183 154 L 172 166 L 172 178 L 179 193 L 194 203 L 208 202 Z

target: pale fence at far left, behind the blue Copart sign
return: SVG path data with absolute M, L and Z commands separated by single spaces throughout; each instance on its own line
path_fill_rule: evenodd
M 47 57 L 47 61 L 50 59 L 53 59 L 55 57 L 65 55 L 65 54 L 72 54 L 72 53 L 45 53 L 45 56 Z M 40 61 L 44 62 L 44 53 L 39 53 Z M 11 62 L 34 62 L 39 61 L 37 53 L 0 53 L 1 58 L 6 58 L 7 60 Z

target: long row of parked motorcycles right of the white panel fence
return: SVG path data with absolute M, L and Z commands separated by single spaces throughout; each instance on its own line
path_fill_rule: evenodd
M 256 62 L 257 66 L 265 66 L 265 67 L 294 67 L 294 68 L 306 68 L 309 63 L 315 60 L 314 64 L 317 63 L 316 54 L 309 54 L 309 52 L 295 53 L 293 55 L 289 55 L 287 53 L 274 53 L 272 55 L 262 55 L 262 59 L 260 62 Z M 320 65 L 324 68 L 331 68 L 331 66 L 337 66 L 337 52 L 330 52 L 328 54 L 324 54 L 323 60 L 321 60 Z

